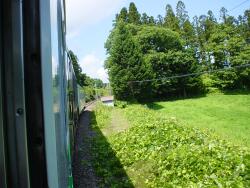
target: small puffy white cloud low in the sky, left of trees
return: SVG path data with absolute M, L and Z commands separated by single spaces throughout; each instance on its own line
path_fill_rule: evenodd
M 84 56 L 79 64 L 82 67 L 83 72 L 91 78 L 99 78 L 104 82 L 108 82 L 108 75 L 103 67 L 104 60 L 96 57 L 94 53 Z

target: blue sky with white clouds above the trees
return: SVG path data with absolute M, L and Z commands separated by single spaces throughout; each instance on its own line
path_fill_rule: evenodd
M 92 78 L 108 82 L 104 61 L 107 57 L 104 43 L 112 29 L 115 15 L 122 7 L 134 2 L 140 13 L 156 17 L 165 15 L 170 4 L 175 10 L 178 0 L 66 0 L 67 46 L 78 57 L 84 73 Z M 189 17 L 206 14 L 212 10 L 219 18 L 219 10 L 225 7 L 229 15 L 243 15 L 250 8 L 250 0 L 182 0 Z M 243 4 L 241 4 L 243 3 Z M 240 5 L 241 4 L 241 5 Z M 238 6 L 240 5 L 240 6 Z

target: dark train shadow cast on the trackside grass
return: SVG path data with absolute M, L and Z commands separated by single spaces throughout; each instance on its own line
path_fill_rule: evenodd
M 100 187 L 134 187 L 115 151 L 102 134 L 96 122 L 95 112 L 91 112 L 91 125 L 95 132 L 92 137 L 92 160 Z

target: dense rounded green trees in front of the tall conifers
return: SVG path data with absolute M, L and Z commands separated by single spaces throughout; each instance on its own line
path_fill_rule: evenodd
M 167 97 L 168 94 L 186 96 L 201 91 L 199 77 L 173 79 L 165 86 L 159 86 L 159 82 L 130 82 L 198 70 L 193 52 L 182 48 L 182 40 L 176 32 L 164 27 L 134 26 L 121 22 L 111 33 L 106 48 L 110 56 L 105 66 L 118 100 L 135 98 L 145 101 Z

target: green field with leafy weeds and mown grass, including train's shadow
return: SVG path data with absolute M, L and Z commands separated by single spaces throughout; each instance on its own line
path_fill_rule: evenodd
M 98 104 L 92 161 L 100 187 L 249 187 L 249 105 L 248 94 Z

